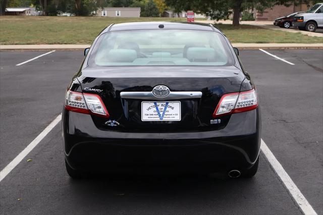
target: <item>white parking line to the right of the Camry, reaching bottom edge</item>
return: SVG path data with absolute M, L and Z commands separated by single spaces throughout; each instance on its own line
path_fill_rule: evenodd
M 261 151 L 267 158 L 268 162 L 271 164 L 279 178 L 284 183 L 285 187 L 288 189 L 291 196 L 294 198 L 298 206 L 301 208 L 304 214 L 316 215 L 317 213 L 313 209 L 313 207 L 306 200 L 305 196 L 298 189 L 296 184 L 293 182 L 291 177 L 286 173 L 283 166 L 276 159 L 273 152 L 268 148 L 268 146 L 261 139 Z

